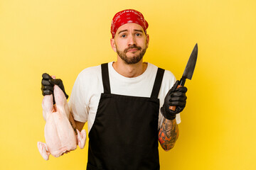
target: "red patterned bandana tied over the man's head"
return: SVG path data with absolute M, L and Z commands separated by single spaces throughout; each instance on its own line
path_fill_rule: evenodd
M 139 26 L 142 26 L 144 32 L 146 33 L 146 28 L 149 27 L 149 24 L 144 19 L 144 16 L 139 11 L 134 9 L 126 9 L 123 11 L 119 11 L 114 15 L 111 23 L 111 34 L 112 38 L 114 38 L 115 33 L 117 33 L 117 29 L 126 24 L 126 23 L 137 23 Z

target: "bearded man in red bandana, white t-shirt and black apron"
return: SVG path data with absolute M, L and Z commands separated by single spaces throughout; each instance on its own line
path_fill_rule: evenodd
M 88 123 L 87 169 L 159 169 L 158 141 L 168 151 L 178 138 L 187 89 L 177 89 L 171 72 L 143 62 L 148 26 L 139 11 L 117 13 L 110 40 L 117 62 L 84 69 L 75 81 L 69 106 L 78 130 Z M 43 74 L 43 95 L 54 84 L 65 93 L 60 79 Z

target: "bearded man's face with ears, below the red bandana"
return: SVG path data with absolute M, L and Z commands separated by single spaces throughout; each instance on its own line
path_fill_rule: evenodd
M 149 45 L 149 35 L 145 35 L 142 26 L 127 23 L 117 29 L 111 39 L 112 49 L 127 64 L 141 61 Z

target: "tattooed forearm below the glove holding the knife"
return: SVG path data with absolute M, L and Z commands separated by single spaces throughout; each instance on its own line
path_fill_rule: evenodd
M 168 120 L 164 118 L 161 128 L 159 130 L 159 142 L 165 151 L 169 151 L 174 147 L 178 139 L 178 125 L 176 119 Z

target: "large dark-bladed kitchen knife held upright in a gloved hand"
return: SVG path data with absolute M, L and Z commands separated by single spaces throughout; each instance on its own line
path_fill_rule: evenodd
M 188 63 L 186 64 L 186 68 L 183 72 L 183 75 L 181 77 L 180 83 L 177 86 L 184 86 L 186 79 L 192 79 L 193 76 L 193 71 L 195 70 L 196 67 L 196 60 L 197 60 L 197 55 L 198 55 L 198 45 L 196 43 L 195 47 L 193 48 L 193 51 L 191 52 L 191 56 L 188 59 Z M 172 111 L 175 111 L 176 106 L 170 106 L 169 109 Z

